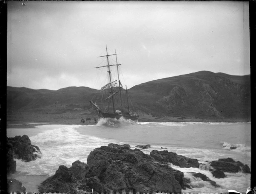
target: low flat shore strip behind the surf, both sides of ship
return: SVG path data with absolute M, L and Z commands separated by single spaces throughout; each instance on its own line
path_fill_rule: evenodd
M 90 118 L 90 121 L 86 121 Z M 85 123 L 81 123 L 84 119 Z M 84 113 L 84 111 L 64 111 L 61 113 L 50 112 L 30 112 L 17 111 L 7 112 L 7 128 L 35 128 L 42 124 L 67 124 L 67 125 L 89 125 L 95 124 L 94 119 L 99 119 L 98 115 Z M 194 116 L 166 116 L 166 115 L 151 115 L 140 113 L 138 122 L 227 122 L 227 123 L 247 123 L 251 118 L 200 118 Z

